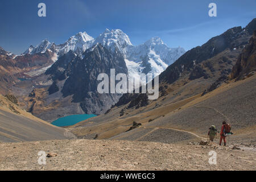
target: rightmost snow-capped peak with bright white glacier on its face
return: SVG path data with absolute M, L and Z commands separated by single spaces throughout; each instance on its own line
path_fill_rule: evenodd
M 155 77 L 183 53 L 183 48 L 170 48 L 159 37 L 154 37 L 139 46 L 128 47 L 126 64 L 129 73 L 134 74 L 135 70 L 141 70 L 141 73 L 150 73 Z

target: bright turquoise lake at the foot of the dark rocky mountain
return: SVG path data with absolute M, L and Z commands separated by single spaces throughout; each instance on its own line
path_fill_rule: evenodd
M 96 117 L 95 114 L 76 114 L 76 115 L 69 115 L 67 117 L 59 118 L 52 122 L 52 125 L 55 126 L 71 126 L 75 125 L 80 121 L 84 121 L 85 119 L 89 119 L 92 117 Z

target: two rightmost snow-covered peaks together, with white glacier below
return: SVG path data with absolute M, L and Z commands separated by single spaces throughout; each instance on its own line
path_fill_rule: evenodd
M 122 30 L 106 29 L 94 40 L 112 51 L 116 48 L 123 54 L 128 73 L 134 78 L 141 73 L 152 74 L 153 77 L 162 73 L 168 65 L 174 63 L 185 53 L 184 48 L 169 48 L 159 37 L 151 38 L 144 44 L 133 46 L 129 37 Z

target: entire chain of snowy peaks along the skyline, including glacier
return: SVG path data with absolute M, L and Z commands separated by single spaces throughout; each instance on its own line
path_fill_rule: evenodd
M 129 36 L 122 30 L 106 29 L 95 39 L 86 32 L 79 32 L 59 45 L 43 40 L 36 47 L 30 46 L 23 54 L 44 53 L 48 49 L 55 52 L 57 56 L 62 56 L 69 51 L 82 55 L 86 49 L 92 48 L 96 44 L 101 44 L 111 51 L 118 49 L 125 58 L 128 73 L 133 77 L 137 77 L 141 73 L 152 73 L 155 77 L 185 53 L 184 48 L 181 47 L 169 48 L 158 37 L 151 38 L 139 46 L 133 46 Z

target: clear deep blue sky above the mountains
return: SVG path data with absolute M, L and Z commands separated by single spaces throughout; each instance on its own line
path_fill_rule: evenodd
M 46 3 L 46 17 L 38 4 Z M 208 5 L 217 4 L 217 17 Z M 19 54 L 43 39 L 64 43 L 77 32 L 96 38 L 106 28 L 119 28 L 138 45 L 159 36 L 169 47 L 186 51 L 235 26 L 256 18 L 254 0 L 1 0 L 0 46 Z

